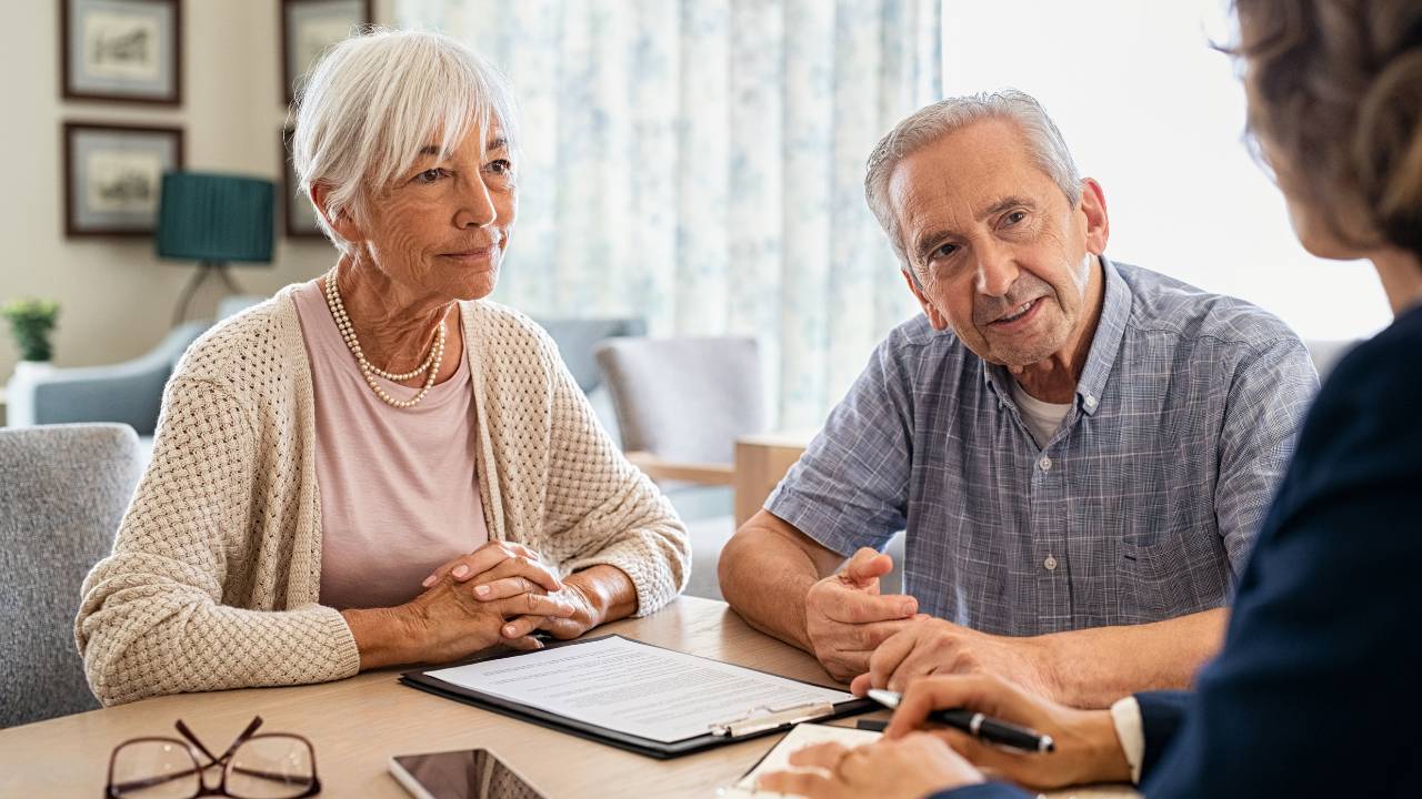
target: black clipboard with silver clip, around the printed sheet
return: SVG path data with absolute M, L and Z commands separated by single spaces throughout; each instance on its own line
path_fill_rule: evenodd
M 559 641 L 556 644 L 546 645 L 545 650 L 576 647 L 580 644 L 590 644 L 593 641 L 604 641 L 609 638 L 636 641 L 634 638 L 627 638 L 626 636 L 599 636 L 596 638 L 586 638 L 577 641 Z M 656 644 L 647 644 L 646 641 L 636 641 L 636 643 L 648 647 L 656 647 Z M 657 647 L 657 648 L 670 650 L 668 647 Z M 677 651 L 677 650 L 670 650 L 670 651 Z M 441 665 L 431 671 L 438 671 L 442 668 L 449 668 L 451 665 L 462 665 L 468 663 L 483 663 L 489 660 L 519 657 L 523 654 L 528 653 L 506 653 L 506 654 L 479 657 L 462 661 L 461 664 Z M 691 655 L 691 657 L 701 657 L 701 655 Z M 702 657 L 701 660 L 711 661 L 714 658 Z M 771 674 L 774 677 L 779 677 L 781 680 L 791 680 L 793 682 L 815 685 L 818 688 L 838 690 L 828 685 L 818 685 L 806 680 L 795 680 L 792 677 L 784 677 L 759 668 L 749 668 L 739 665 L 737 668 L 747 668 L 748 671 Z M 668 744 L 663 741 L 653 741 L 650 738 L 643 738 L 640 735 L 631 735 L 619 729 L 609 729 L 606 726 L 600 726 L 596 724 L 587 724 L 540 708 L 533 708 L 522 702 L 505 699 L 503 697 L 495 697 L 492 694 L 485 694 L 482 691 L 464 688 L 461 685 L 455 685 L 452 682 L 439 680 L 438 677 L 431 677 L 422 670 L 407 671 L 401 674 L 400 682 L 402 685 L 410 685 L 411 688 L 417 688 L 419 691 L 427 691 L 437 697 L 444 697 L 447 699 L 454 699 L 456 702 L 465 702 L 469 705 L 481 707 L 502 715 L 518 718 L 520 721 L 528 721 L 532 724 L 538 724 L 540 726 L 547 726 L 549 729 L 557 729 L 559 732 L 567 732 L 570 735 L 577 735 L 579 738 L 597 741 L 599 744 L 617 746 L 619 749 L 627 749 L 629 752 L 637 752 L 638 755 L 646 755 L 648 758 L 657 758 L 657 759 L 680 758 L 681 755 L 704 752 L 707 749 L 725 746 L 728 744 L 738 744 L 741 741 L 749 741 L 752 738 L 761 738 L 764 735 L 774 735 L 776 732 L 784 732 L 785 729 L 789 729 L 791 726 L 802 721 L 828 721 L 832 718 L 842 718 L 848 715 L 857 715 L 862 712 L 879 709 L 879 705 L 873 699 L 867 698 L 849 699 L 835 704 L 818 702 L 818 704 L 796 705 L 788 708 L 765 708 L 765 707 L 742 708 L 737 712 L 728 714 L 725 719 L 720 721 L 718 724 L 714 724 L 712 729 L 708 729 L 702 735 L 697 735 L 694 738 L 684 738 L 681 741 L 673 741 Z

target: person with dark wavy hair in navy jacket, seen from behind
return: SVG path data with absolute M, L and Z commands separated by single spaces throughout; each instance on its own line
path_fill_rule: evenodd
M 808 796 L 1025 796 L 1143 781 L 1146 796 L 1416 796 L 1422 756 L 1422 4 L 1236 0 L 1249 127 L 1298 240 L 1372 262 L 1395 320 L 1335 368 L 1246 566 L 1224 648 L 1193 692 L 1078 711 L 988 677 L 912 682 L 872 746 L 798 752 L 768 775 Z M 920 731 L 968 708 L 1051 735 L 1012 754 Z

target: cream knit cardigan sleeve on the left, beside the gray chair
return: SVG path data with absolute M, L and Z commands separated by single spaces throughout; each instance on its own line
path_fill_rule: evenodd
M 255 532 L 269 529 L 253 519 L 270 512 L 255 490 L 257 451 L 229 390 L 183 377 L 169 382 L 152 463 L 114 553 L 84 580 L 75 620 L 90 687 L 105 705 L 358 671 L 338 611 L 286 608 L 276 597 L 264 603 L 272 607 L 237 607 L 269 593 L 252 590 L 269 581 L 257 573 L 263 563 L 292 556 L 269 552 L 290 549 L 290 540 Z

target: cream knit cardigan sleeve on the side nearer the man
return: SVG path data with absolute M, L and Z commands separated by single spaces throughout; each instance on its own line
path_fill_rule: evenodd
M 597 424 L 557 347 L 539 331 L 552 382 L 545 554 L 565 573 L 616 566 L 637 587 L 637 613 L 671 601 L 691 576 L 691 543 L 671 502 Z

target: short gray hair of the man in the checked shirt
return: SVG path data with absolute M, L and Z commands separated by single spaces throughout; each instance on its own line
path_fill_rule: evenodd
M 869 155 L 865 175 L 865 199 L 889 236 L 903 270 L 917 279 L 909 250 L 899 229 L 899 219 L 889 205 L 889 178 L 894 166 L 929 144 L 981 119 L 1007 119 L 1021 128 L 1027 149 L 1037 166 L 1052 179 L 1075 206 L 1081 200 L 1081 175 L 1062 141 L 1061 131 L 1030 94 L 1007 88 L 994 92 L 950 97 L 914 111 L 894 125 Z

